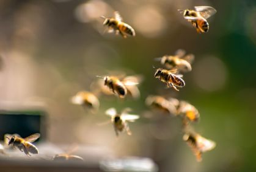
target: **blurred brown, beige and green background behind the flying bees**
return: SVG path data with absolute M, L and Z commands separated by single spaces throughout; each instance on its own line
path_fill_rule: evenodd
M 210 5 L 218 12 L 210 30 L 197 34 L 177 9 Z M 103 34 L 101 15 L 118 10 L 136 37 Z M 159 171 L 254 171 L 256 137 L 256 2 L 192 0 L 0 1 L 0 108 L 44 109 L 47 139 L 56 145 L 78 143 L 108 148 L 114 156 L 150 157 Z M 186 87 L 165 89 L 153 77 L 155 57 L 177 49 L 194 53 Z M 100 111 L 89 114 L 70 103 L 90 91 L 96 75 L 111 71 L 141 74 L 139 100 L 100 97 Z M 180 120 L 153 114 L 147 95 L 169 95 L 199 109 L 194 124 L 217 143 L 198 163 L 182 140 Z M 132 136 L 115 137 L 104 111 L 131 107 L 141 119 Z

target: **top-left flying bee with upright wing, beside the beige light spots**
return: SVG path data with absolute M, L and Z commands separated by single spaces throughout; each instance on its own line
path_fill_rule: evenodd
M 135 36 L 135 31 L 133 27 L 123 22 L 122 17 L 119 12 L 114 12 L 114 18 L 106 18 L 105 16 L 101 16 L 101 18 L 105 19 L 103 25 L 108 26 L 108 32 L 115 32 L 126 38 L 127 35 Z

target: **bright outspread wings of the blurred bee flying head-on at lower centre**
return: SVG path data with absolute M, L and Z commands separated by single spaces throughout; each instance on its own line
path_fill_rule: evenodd
M 128 114 L 128 112 L 131 111 L 130 108 L 126 108 L 122 111 L 121 113 L 121 119 L 124 121 L 129 121 L 129 122 L 134 122 L 136 119 L 139 119 L 139 115 L 134 115 L 134 114 Z M 106 110 L 106 115 L 109 115 L 110 117 L 114 117 L 117 115 L 117 111 L 115 108 L 109 108 Z

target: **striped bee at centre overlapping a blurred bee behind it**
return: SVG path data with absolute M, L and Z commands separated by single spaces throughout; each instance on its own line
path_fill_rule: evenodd
M 112 91 L 114 94 L 119 95 L 120 98 L 124 98 L 128 94 L 128 92 L 134 97 L 139 96 L 139 90 L 135 86 L 139 83 L 130 80 L 130 78 L 128 77 L 124 78 L 123 80 L 120 80 L 118 77 L 114 76 L 97 77 L 103 78 L 104 86 L 107 86 L 110 91 Z

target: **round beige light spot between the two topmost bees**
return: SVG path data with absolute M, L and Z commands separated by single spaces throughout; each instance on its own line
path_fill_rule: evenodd
M 164 32 L 166 21 L 156 7 L 148 5 L 133 13 L 133 26 L 137 32 L 148 38 L 153 38 Z

